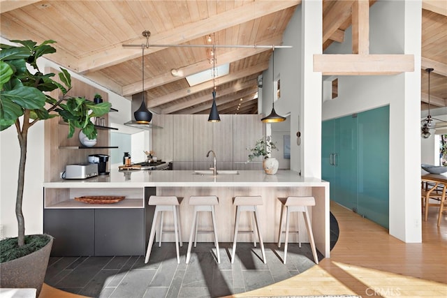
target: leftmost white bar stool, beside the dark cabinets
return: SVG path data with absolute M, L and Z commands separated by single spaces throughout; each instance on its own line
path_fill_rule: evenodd
M 174 230 L 165 232 L 174 232 L 175 234 L 175 250 L 177 251 L 177 264 L 180 263 L 179 255 L 179 243 L 183 246 L 182 242 L 182 230 L 180 229 L 180 216 L 179 216 L 179 204 L 182 202 L 183 198 L 177 198 L 175 196 L 165 196 L 165 195 L 151 195 L 149 197 L 149 205 L 155 205 L 154 220 L 152 221 L 152 228 L 149 234 L 149 244 L 147 244 L 145 263 L 149 262 L 149 255 L 152 251 L 152 244 L 154 244 L 155 230 L 157 228 L 157 216 L 159 212 L 160 216 L 160 228 L 159 232 L 159 246 L 161 246 L 161 236 L 163 231 L 163 212 L 170 211 L 173 212 L 174 217 Z

